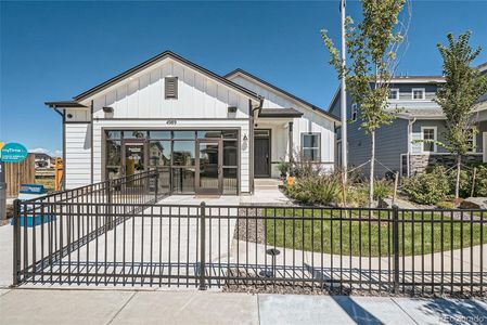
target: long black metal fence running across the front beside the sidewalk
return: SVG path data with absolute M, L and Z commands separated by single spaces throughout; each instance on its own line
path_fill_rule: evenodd
M 14 283 L 486 295 L 485 210 L 162 205 L 117 193 L 17 202 Z

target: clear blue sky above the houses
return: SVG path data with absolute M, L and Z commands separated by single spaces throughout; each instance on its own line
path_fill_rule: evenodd
M 348 1 L 357 16 L 359 3 Z M 398 73 L 440 74 L 437 42 L 473 31 L 487 61 L 487 1 L 412 1 Z M 0 141 L 62 147 L 61 119 L 43 105 L 68 100 L 172 50 L 226 74 L 244 68 L 326 108 L 336 74 L 320 38 L 337 41 L 338 0 L 228 2 L 0 2 Z

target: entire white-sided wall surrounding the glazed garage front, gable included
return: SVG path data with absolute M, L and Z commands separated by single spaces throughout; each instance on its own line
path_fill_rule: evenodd
M 178 77 L 177 99 L 165 99 L 166 77 Z M 89 108 L 66 109 L 66 114 L 72 115 L 69 121 L 89 121 L 92 106 L 92 181 L 100 182 L 105 178 L 104 130 L 239 129 L 240 191 L 249 192 L 249 148 L 243 141 L 245 135 L 249 136 L 249 99 L 235 89 L 192 67 L 166 58 L 81 103 Z M 106 106 L 112 107 L 113 113 L 105 113 L 103 107 Z M 236 112 L 229 113 L 229 106 L 235 106 Z M 81 128 L 87 125 L 66 126 L 73 126 L 66 128 L 66 141 L 91 139 L 91 130 Z M 67 188 L 91 183 L 90 141 L 86 141 L 84 145 L 80 142 L 66 145 L 66 160 Z

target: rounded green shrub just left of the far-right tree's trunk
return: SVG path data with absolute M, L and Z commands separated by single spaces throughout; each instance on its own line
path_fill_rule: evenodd
M 431 170 L 403 180 L 403 190 L 412 202 L 433 205 L 446 200 L 450 184 L 445 167 L 437 166 Z

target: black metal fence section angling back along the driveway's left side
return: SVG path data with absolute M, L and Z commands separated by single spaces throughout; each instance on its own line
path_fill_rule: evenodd
M 63 258 L 71 261 L 75 251 L 79 257 L 81 247 L 124 223 L 125 216 L 139 213 L 139 205 L 161 199 L 158 177 L 157 170 L 151 170 L 30 200 L 15 200 L 14 284 L 23 281 L 22 272 L 35 274 L 39 270 L 46 272 L 46 268 L 53 272 Z M 120 207 L 120 203 L 131 204 L 132 209 Z

